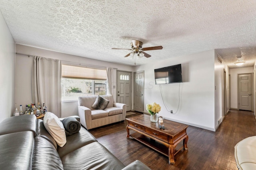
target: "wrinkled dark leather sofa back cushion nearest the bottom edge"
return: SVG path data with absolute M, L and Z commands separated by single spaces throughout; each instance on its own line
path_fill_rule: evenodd
M 35 137 L 32 170 L 63 170 L 55 147 L 42 137 Z

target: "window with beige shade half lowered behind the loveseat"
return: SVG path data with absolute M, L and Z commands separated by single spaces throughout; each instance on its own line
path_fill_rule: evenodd
M 79 96 L 105 95 L 106 70 L 62 64 L 62 101 L 78 100 Z

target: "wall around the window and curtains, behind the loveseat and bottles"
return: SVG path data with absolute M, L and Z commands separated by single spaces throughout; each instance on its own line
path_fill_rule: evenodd
M 113 67 L 118 68 L 118 70 L 133 71 L 133 66 L 127 66 L 123 64 L 109 63 L 105 61 L 99 61 L 94 59 L 89 59 L 85 57 L 79 57 L 75 55 L 69 55 L 64 53 L 59 53 L 55 51 L 49 51 L 45 49 L 39 49 L 35 47 L 16 45 L 16 52 L 28 55 L 36 55 L 40 57 L 60 59 L 62 61 L 89 64 L 94 66 L 103 67 Z M 27 57 L 23 55 L 16 55 L 16 90 L 15 90 L 15 107 L 22 106 L 32 103 L 32 86 L 31 86 L 31 76 L 32 76 L 32 64 L 33 57 Z M 113 75 L 113 86 L 116 86 L 116 70 L 114 70 Z M 114 100 L 116 100 L 116 89 L 113 89 Z M 24 107 L 25 108 L 25 107 Z M 48 110 L 50 111 L 50 110 Z M 67 117 L 71 115 L 78 115 L 78 102 L 62 102 L 62 117 Z

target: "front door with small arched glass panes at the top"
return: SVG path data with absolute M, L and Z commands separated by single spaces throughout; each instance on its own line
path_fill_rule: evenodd
M 117 70 L 117 102 L 126 104 L 126 111 L 132 110 L 132 73 Z

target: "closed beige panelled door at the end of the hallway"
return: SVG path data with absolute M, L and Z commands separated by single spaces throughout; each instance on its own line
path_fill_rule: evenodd
M 251 74 L 238 75 L 238 88 L 239 88 L 239 109 L 252 110 L 252 82 Z

